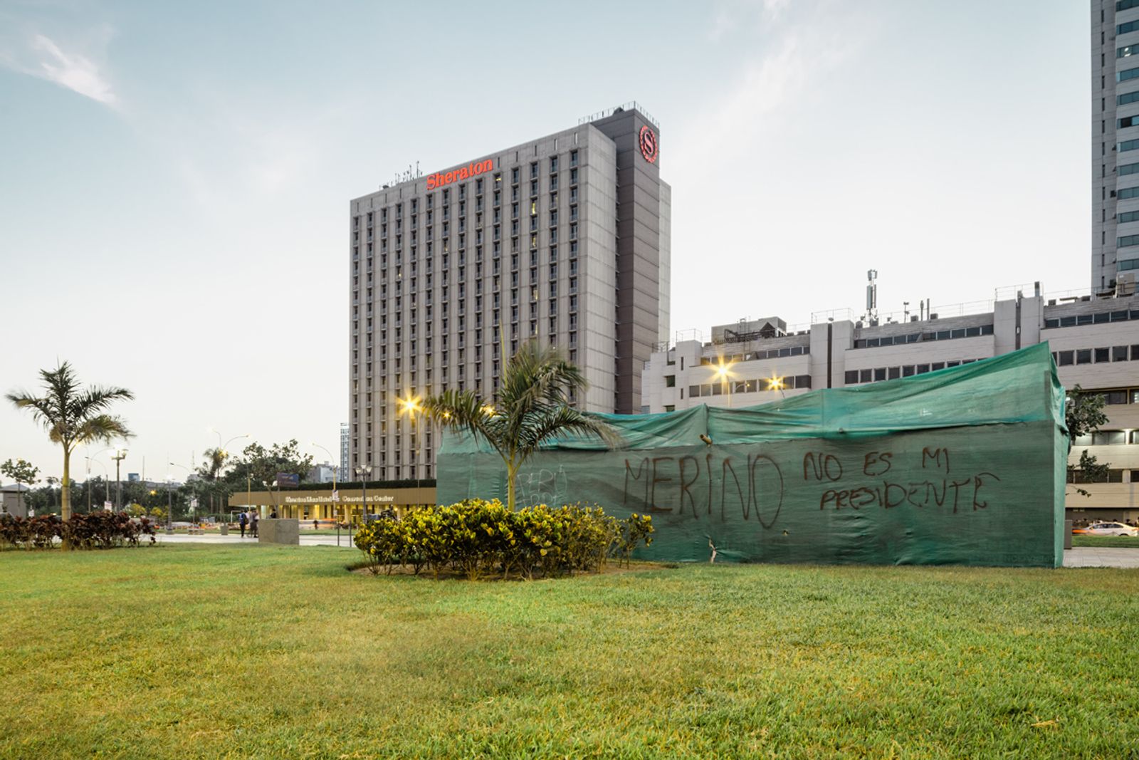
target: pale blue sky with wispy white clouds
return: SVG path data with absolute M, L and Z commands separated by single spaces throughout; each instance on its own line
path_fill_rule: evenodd
M 1085 291 L 1089 30 L 1073 0 L 0 0 L 0 392 L 59 361 L 133 391 L 124 477 L 243 434 L 335 461 L 349 201 L 631 100 L 673 334 L 857 316 L 871 268 L 883 312 Z M 0 403 L 17 457 L 63 471 Z

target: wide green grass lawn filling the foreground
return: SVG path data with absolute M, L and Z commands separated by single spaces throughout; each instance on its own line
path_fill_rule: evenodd
M 1139 571 L 0 553 L 0 757 L 1122 758 Z

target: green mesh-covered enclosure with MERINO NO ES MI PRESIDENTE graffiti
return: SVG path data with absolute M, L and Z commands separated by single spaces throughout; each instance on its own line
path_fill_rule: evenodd
M 1067 435 L 1047 344 L 744 409 L 597 416 L 624 446 L 551 442 L 519 473 L 518 506 L 650 514 L 645 558 L 1062 562 Z M 506 501 L 506 471 L 448 433 L 437 500 L 468 497 Z

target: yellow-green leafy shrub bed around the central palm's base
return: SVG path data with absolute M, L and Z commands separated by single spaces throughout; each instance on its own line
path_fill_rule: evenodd
M 470 580 L 500 573 L 533 578 L 598 571 L 617 556 L 628 564 L 640 542 L 652 544 L 652 518 L 617 521 L 600 507 L 550 508 L 538 505 L 511 512 L 498 499 L 468 499 L 449 507 L 416 509 L 402 521 L 376 520 L 357 533 L 372 572 L 411 566 L 460 572 Z

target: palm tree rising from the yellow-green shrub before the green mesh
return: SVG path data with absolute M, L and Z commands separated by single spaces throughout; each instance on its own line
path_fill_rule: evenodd
M 621 442 L 606 423 L 570 406 L 570 395 L 587 386 L 581 370 L 555 348 L 530 342 L 510 358 L 502 374 L 498 406 L 470 391 L 444 391 L 427 399 L 424 414 L 452 431 L 486 441 L 506 464 L 507 506 L 515 508 L 515 481 L 539 447 L 564 433 L 593 435 L 608 446 Z

